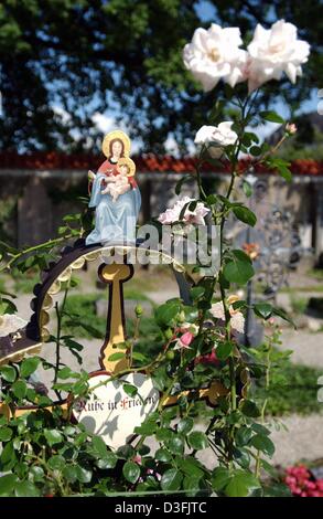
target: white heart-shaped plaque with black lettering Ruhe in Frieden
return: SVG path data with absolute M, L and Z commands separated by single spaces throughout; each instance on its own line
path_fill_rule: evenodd
M 89 388 L 95 389 L 87 400 L 78 400 L 73 404 L 73 415 L 87 431 L 117 449 L 131 439 L 134 427 L 141 425 L 157 409 L 159 392 L 151 378 L 142 373 L 109 379 L 106 373 L 91 377 Z M 129 396 L 123 390 L 125 383 L 138 388 L 138 393 Z

